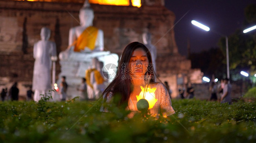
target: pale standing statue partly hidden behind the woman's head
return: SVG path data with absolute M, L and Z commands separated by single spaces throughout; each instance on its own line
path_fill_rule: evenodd
M 143 40 L 143 43 L 145 44 L 145 46 L 148 48 L 148 50 L 151 53 L 152 63 L 154 65 L 154 72 L 156 74 L 156 62 L 155 61 L 157 58 L 157 50 L 156 50 L 156 47 L 151 44 L 151 33 L 144 32 L 142 34 L 142 40 Z

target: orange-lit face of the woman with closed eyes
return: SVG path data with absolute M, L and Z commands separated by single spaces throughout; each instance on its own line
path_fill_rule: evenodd
M 147 53 L 142 48 L 134 50 L 129 63 L 131 75 L 143 76 L 148 68 Z

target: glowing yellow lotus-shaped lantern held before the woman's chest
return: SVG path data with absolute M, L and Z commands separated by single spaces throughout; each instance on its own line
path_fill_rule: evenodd
M 148 104 L 149 104 L 148 109 L 153 108 L 157 101 L 157 99 L 155 98 L 155 93 L 154 93 L 156 91 L 156 87 L 150 88 L 150 86 L 148 86 L 146 91 L 143 86 L 140 86 L 140 88 L 141 88 L 141 92 L 139 93 L 139 95 L 136 95 L 137 101 L 140 99 L 145 99 L 148 101 Z M 145 92 L 145 95 L 144 95 L 144 92 Z M 143 98 L 143 95 L 145 98 Z

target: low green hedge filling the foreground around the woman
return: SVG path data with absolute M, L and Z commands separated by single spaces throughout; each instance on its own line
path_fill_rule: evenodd
M 172 100 L 176 113 L 155 119 L 101 101 L 0 102 L 0 143 L 256 142 L 256 103 Z

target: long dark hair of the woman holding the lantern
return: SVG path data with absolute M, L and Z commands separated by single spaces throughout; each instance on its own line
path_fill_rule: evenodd
M 129 73 L 121 72 L 121 70 L 123 68 L 122 67 L 123 64 L 130 62 L 133 51 L 138 48 L 142 48 L 146 52 L 147 57 L 148 57 L 148 63 L 152 64 L 151 54 L 145 45 L 143 45 L 142 43 L 139 43 L 139 42 L 129 43 L 124 48 L 123 53 L 121 55 L 121 59 L 118 64 L 118 71 L 117 71 L 115 79 L 109 84 L 109 86 L 102 93 L 102 95 L 104 95 L 104 94 L 108 95 L 109 92 L 112 92 L 113 97 L 116 95 L 121 95 L 120 100 L 117 101 L 118 105 L 121 105 L 123 103 L 128 105 L 128 100 L 130 98 L 130 94 L 133 92 L 131 78 L 122 78 L 122 77 L 129 77 L 130 76 Z M 145 76 L 150 77 L 149 83 L 154 82 L 154 68 L 153 67 L 154 67 L 153 65 L 148 66 L 148 69 L 145 74 Z

